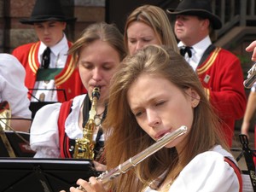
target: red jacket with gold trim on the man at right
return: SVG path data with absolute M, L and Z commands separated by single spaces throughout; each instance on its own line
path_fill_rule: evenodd
M 196 72 L 222 120 L 224 134 L 231 147 L 235 121 L 243 117 L 247 105 L 240 61 L 229 51 L 217 47 Z

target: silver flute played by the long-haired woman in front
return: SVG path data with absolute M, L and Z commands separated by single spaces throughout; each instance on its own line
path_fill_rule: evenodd
M 100 176 L 96 177 L 96 179 L 102 181 L 103 184 L 108 183 L 113 178 L 119 177 L 120 174 L 129 171 L 131 167 L 137 166 L 137 164 L 139 164 L 155 152 L 159 151 L 161 148 L 164 148 L 166 144 L 171 143 L 173 140 L 175 140 L 177 137 L 182 136 L 187 131 L 188 128 L 183 125 L 176 131 L 173 131 L 172 133 L 167 133 L 164 137 L 161 137 L 156 143 L 154 143 L 150 147 L 144 149 L 139 154 L 136 154 L 129 160 L 126 160 L 124 163 L 113 168 L 109 172 L 103 172 Z M 85 191 L 82 186 L 79 186 L 78 189 Z

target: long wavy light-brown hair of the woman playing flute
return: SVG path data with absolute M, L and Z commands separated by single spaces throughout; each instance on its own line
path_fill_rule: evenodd
M 104 127 L 109 127 L 106 142 L 108 169 L 118 166 L 154 143 L 137 124 L 127 102 L 127 91 L 143 73 L 168 79 L 184 94 L 186 89 L 192 88 L 201 97 L 200 103 L 194 108 L 193 124 L 182 152 L 177 154 L 176 148 L 162 148 L 131 171 L 121 175 L 117 182 L 112 183 L 113 191 L 141 191 L 152 181 L 159 180 L 166 170 L 168 179 L 174 180 L 195 155 L 217 144 L 229 150 L 224 143 L 223 134 L 220 134 L 218 117 L 212 111 L 212 106 L 192 67 L 173 49 L 148 45 L 136 55 L 125 57 L 111 82 L 108 115 L 104 121 Z

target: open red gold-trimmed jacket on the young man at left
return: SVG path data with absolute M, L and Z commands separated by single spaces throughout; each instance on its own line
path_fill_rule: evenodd
M 25 85 L 27 89 L 33 89 L 36 82 L 37 71 L 40 66 L 40 63 L 38 62 L 39 45 L 40 42 L 24 44 L 13 51 L 13 55 L 15 55 L 23 67 L 25 67 Z M 72 44 L 68 42 L 68 46 L 70 47 L 71 45 Z M 66 65 L 61 73 L 55 76 L 55 86 L 56 89 L 65 90 L 67 101 L 72 99 L 74 96 L 86 93 L 79 76 L 79 70 L 75 66 L 71 55 L 67 56 Z M 32 94 L 32 90 L 29 90 L 29 92 Z M 28 95 L 29 99 L 31 98 L 31 94 Z M 62 91 L 57 91 L 57 96 L 59 102 L 66 101 Z

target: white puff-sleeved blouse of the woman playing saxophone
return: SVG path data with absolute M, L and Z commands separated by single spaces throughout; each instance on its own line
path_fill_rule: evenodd
M 86 95 L 73 98 L 72 111 L 65 121 L 65 132 L 71 139 L 83 137 L 79 128 L 79 111 Z M 54 103 L 40 108 L 32 122 L 30 145 L 36 151 L 35 158 L 59 158 L 61 155 L 59 144 L 58 119 L 61 103 Z M 94 140 L 96 134 L 94 135 Z M 104 141 L 102 136 L 101 141 Z

